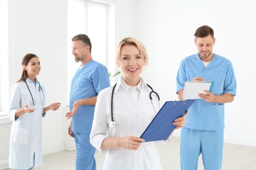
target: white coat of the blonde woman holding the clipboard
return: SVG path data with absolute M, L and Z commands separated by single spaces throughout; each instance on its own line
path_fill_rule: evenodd
M 120 78 L 114 90 L 113 111 L 116 126 L 110 127 L 111 94 L 113 87 L 102 90 L 97 97 L 95 116 L 91 129 L 90 142 L 101 153 L 106 153 L 103 169 L 162 169 L 155 142 L 142 143 L 139 150 L 116 148 L 101 150 L 100 146 L 106 137 L 137 136 L 143 133 L 152 121 L 156 112 L 150 102 L 150 88 L 142 81 L 137 107 L 125 90 Z M 156 95 L 152 95 L 156 111 L 160 104 Z

